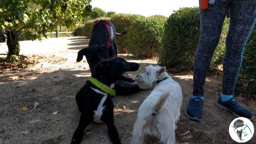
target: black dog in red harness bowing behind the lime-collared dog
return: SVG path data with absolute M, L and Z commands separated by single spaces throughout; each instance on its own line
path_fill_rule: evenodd
M 102 59 L 117 57 L 118 51 L 115 43 L 116 36 L 121 36 L 126 32 L 127 31 L 117 33 L 114 25 L 110 21 L 95 21 L 95 25 L 91 33 L 91 39 L 89 41 L 89 46 L 78 51 L 76 61 L 80 62 L 83 59 L 83 56 L 85 56 L 92 73 L 95 69 L 95 66 Z M 116 91 L 117 95 L 133 94 L 140 90 L 137 84 L 124 81 L 117 82 L 113 89 Z

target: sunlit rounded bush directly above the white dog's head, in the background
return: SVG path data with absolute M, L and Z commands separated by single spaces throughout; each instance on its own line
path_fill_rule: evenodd
M 164 24 L 167 19 L 161 15 L 137 19 L 127 35 L 129 53 L 136 58 L 157 57 L 162 46 Z

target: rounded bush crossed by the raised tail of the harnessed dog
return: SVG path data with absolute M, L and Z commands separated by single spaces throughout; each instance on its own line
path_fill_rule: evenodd
M 134 23 L 134 21 L 141 18 L 145 17 L 138 14 L 116 14 L 110 19 L 110 21 L 114 24 L 116 31 L 121 33 L 125 30 L 128 30 L 129 32 L 130 26 Z M 126 52 L 128 48 L 127 34 L 117 36 L 116 43 L 119 53 Z

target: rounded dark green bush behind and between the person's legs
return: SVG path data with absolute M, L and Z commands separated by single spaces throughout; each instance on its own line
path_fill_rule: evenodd
M 219 45 L 213 54 L 213 68 L 222 64 L 228 25 L 229 20 L 225 20 Z M 199 8 L 180 8 L 175 11 L 165 24 L 163 49 L 160 51 L 158 63 L 174 69 L 175 72 L 192 70 L 199 37 Z

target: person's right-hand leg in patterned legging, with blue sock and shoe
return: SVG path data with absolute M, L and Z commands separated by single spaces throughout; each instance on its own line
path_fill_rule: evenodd
M 253 115 L 235 101 L 233 93 L 242 65 L 245 44 L 255 22 L 255 0 L 232 0 L 230 3 L 229 31 L 226 37 L 226 53 L 223 59 L 222 94 L 216 103 L 217 106 L 231 111 L 235 116 L 248 119 L 253 119 Z

